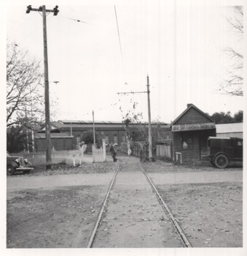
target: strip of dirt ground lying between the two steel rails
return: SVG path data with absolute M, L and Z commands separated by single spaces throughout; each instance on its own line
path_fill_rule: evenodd
M 93 247 L 183 247 L 138 160 L 122 165 Z

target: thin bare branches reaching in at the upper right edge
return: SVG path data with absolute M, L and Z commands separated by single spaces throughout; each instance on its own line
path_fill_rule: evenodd
M 239 40 L 243 41 L 243 7 L 234 7 L 235 16 L 227 18 Z M 227 78 L 220 84 L 220 91 L 232 96 L 243 96 L 243 53 L 234 48 L 224 49 L 230 56 L 230 69 Z

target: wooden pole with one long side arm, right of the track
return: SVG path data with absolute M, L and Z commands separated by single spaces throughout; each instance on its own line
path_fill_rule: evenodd
M 152 154 L 152 125 L 151 125 L 151 109 L 150 109 L 150 90 L 149 90 L 149 75 L 146 77 L 147 85 L 146 91 L 128 91 L 128 92 L 118 92 L 117 94 L 147 94 L 147 108 L 149 114 L 149 161 L 153 161 Z

